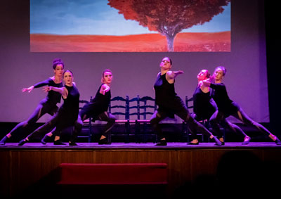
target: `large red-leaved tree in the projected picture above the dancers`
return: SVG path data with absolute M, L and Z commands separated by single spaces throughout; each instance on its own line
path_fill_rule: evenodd
M 178 32 L 209 22 L 223 12 L 230 0 L 108 0 L 126 20 L 136 20 L 150 31 L 166 36 L 168 51 L 174 51 Z

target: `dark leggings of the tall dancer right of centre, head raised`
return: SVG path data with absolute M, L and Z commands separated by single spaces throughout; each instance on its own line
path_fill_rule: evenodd
M 175 114 L 178 115 L 178 117 L 181 117 L 182 120 L 187 122 L 188 129 L 190 130 L 190 132 L 192 134 L 196 134 L 196 131 L 200 131 L 203 134 L 206 134 L 208 136 L 212 135 L 211 132 L 208 131 L 202 124 L 200 124 L 199 122 L 194 120 L 194 118 L 188 112 L 187 108 L 183 107 L 181 111 L 178 111 Z M 150 124 L 155 129 L 155 131 L 157 131 L 157 136 L 158 136 L 159 139 L 164 139 L 164 134 L 163 134 L 162 129 L 159 125 L 159 122 L 164 120 L 166 117 L 168 117 L 168 113 L 164 113 L 164 112 L 160 112 L 160 111 L 156 110 L 155 113 L 153 113 L 153 115 L 150 119 Z

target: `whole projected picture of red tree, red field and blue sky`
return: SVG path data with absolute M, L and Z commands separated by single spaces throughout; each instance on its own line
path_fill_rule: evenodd
M 229 52 L 230 0 L 30 0 L 32 52 Z

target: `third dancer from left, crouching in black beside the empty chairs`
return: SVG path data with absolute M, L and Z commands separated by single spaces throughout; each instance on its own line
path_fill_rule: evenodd
M 105 128 L 103 129 L 102 135 L 100 136 L 98 144 L 110 144 L 110 141 L 108 141 L 108 136 L 110 136 L 110 129 L 112 129 L 116 120 L 112 114 L 107 112 L 111 98 L 110 84 L 112 82 L 112 77 L 111 70 L 107 69 L 103 71 L 101 78 L 102 84 L 99 86 L 95 98 L 93 98 L 91 102 L 86 103 L 79 112 L 78 120 L 74 127 L 75 134 L 72 135 L 73 141 L 80 133 L 83 121 L 91 117 L 93 120 L 107 122 L 107 124 L 105 124 Z

